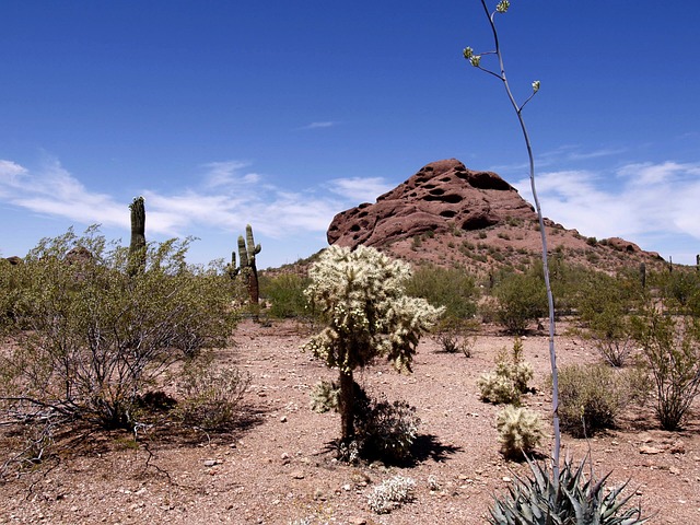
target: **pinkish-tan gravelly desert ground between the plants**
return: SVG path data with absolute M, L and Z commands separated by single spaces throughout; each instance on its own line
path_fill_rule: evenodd
M 384 364 L 360 375 L 371 393 L 418 409 L 418 459 L 404 468 L 339 464 L 326 450 L 338 435 L 339 418 L 311 411 L 308 394 L 334 372 L 300 351 L 304 327 L 245 322 L 235 340 L 218 355 L 252 377 L 235 432 L 183 436 L 151 429 L 138 434 L 136 447 L 126 433 L 75 436 L 80 445 L 72 454 L 0 486 L 0 523 L 481 524 L 493 494 L 526 469 L 499 453 L 499 408 L 480 401 L 476 387 L 495 353 L 512 346 L 511 338 L 480 335 L 474 355 L 465 358 L 440 352 L 428 337 L 412 375 Z M 529 336 L 524 347 L 540 385 L 524 404 L 548 421 L 547 338 Z M 565 335 L 558 336 L 557 348 L 560 365 L 597 360 L 586 343 Z M 684 432 L 656 430 L 652 411 L 645 410 L 591 441 L 564 438 L 564 453 L 581 459 L 590 450 L 598 475 L 612 470 L 610 485 L 631 479 L 632 503 L 657 513 L 651 523 L 696 524 L 699 429 L 692 419 Z M 368 494 L 397 474 L 416 481 L 415 500 L 374 514 Z

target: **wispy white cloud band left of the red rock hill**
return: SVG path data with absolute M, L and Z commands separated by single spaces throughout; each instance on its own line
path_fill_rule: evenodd
M 212 162 L 202 166 L 206 173 L 197 187 L 171 194 L 143 188 L 148 230 L 184 236 L 202 230 L 240 231 L 254 223 L 256 231 L 271 237 L 319 233 L 338 211 L 354 205 L 348 196 L 277 187 L 262 175 L 246 172 L 248 166 L 238 161 Z M 57 161 L 32 172 L 0 161 L 0 201 L 85 225 L 129 225 L 126 205 L 118 197 L 86 188 Z

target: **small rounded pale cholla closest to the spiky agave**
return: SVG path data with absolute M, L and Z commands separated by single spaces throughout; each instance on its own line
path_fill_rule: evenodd
M 537 412 L 527 408 L 506 406 L 498 415 L 497 429 L 505 457 L 522 458 L 538 446 L 544 438 Z

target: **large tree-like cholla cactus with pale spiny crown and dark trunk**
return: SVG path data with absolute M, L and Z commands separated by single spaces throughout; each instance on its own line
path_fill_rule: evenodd
M 374 248 L 330 246 L 311 268 L 305 294 L 322 314 L 326 328 L 304 349 L 338 368 L 342 441 L 354 434 L 353 371 L 377 357 L 400 371 L 410 364 L 422 332 L 444 308 L 409 298 L 404 284 L 410 267 Z

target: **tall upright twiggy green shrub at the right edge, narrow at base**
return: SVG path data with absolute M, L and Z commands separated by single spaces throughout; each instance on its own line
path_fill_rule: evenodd
M 700 388 L 700 320 L 650 305 L 634 316 L 634 337 L 654 378 L 656 416 L 665 430 L 684 424 Z

